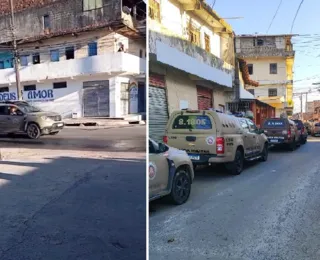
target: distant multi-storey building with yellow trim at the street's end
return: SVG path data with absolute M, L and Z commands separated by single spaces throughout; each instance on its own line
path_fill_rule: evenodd
M 258 87 L 246 86 L 260 101 L 276 108 L 276 116 L 293 112 L 293 35 L 239 35 L 236 54 L 246 61 Z

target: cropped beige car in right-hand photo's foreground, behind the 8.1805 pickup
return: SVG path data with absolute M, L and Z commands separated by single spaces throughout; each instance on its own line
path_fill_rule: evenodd
M 149 139 L 149 201 L 168 196 L 185 203 L 194 179 L 192 162 L 185 151 Z

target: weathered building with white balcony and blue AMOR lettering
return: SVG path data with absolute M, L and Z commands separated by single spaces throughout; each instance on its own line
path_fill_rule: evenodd
M 146 4 L 134 0 L 16 0 L 24 100 L 64 117 L 146 111 Z M 8 28 L 9 5 L 0 5 Z M 10 33 L 0 35 L 11 46 Z M 1 49 L 1 48 L 0 48 Z M 3 49 L 3 48 L 2 48 Z M 0 100 L 16 99 L 11 52 L 0 53 Z

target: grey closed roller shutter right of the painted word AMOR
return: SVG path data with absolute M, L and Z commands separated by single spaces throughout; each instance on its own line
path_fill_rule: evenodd
M 108 117 L 109 81 L 83 82 L 83 116 Z

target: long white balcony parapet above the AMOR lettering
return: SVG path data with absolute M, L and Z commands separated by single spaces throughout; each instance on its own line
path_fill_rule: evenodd
M 58 78 L 73 78 L 92 74 L 139 75 L 146 71 L 146 61 L 128 53 L 118 52 L 82 59 L 46 62 L 20 69 L 20 80 L 41 81 Z M 0 70 L 0 84 L 16 81 L 14 69 Z

